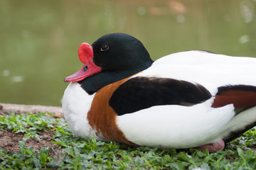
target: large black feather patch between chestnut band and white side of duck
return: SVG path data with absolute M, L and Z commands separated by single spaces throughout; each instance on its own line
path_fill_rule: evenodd
M 159 105 L 191 106 L 206 101 L 210 92 L 199 84 L 157 77 L 135 77 L 114 91 L 110 106 L 118 115 Z

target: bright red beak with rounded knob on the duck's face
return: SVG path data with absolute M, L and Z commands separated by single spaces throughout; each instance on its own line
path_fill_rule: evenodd
M 64 81 L 81 81 L 86 77 L 91 77 L 93 74 L 97 74 L 102 71 L 102 68 L 98 67 L 93 62 L 93 50 L 89 44 L 83 42 L 80 45 L 78 49 L 78 56 L 84 66 L 75 74 L 66 77 Z

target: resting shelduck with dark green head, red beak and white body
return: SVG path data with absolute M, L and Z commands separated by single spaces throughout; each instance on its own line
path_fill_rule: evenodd
M 63 114 L 77 137 L 133 147 L 216 152 L 256 126 L 256 59 L 204 50 L 153 61 L 132 35 L 78 49 Z

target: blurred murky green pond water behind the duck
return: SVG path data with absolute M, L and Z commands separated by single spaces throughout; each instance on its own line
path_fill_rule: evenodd
M 185 50 L 256 57 L 255 0 L 1 0 L 0 102 L 60 106 L 78 47 L 107 33 L 151 57 Z

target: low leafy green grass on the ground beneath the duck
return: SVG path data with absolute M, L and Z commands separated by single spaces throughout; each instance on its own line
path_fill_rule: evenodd
M 63 119 L 45 113 L 9 115 L 0 118 L 0 130 L 24 133 L 20 152 L 0 148 L 0 169 L 256 169 L 256 132 L 250 130 L 224 151 L 209 154 L 196 149 L 176 150 L 129 147 L 115 142 L 97 142 L 74 137 Z M 30 137 L 53 130 L 58 148 L 26 147 Z M 50 152 L 55 155 L 49 156 Z

